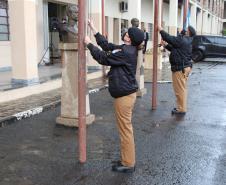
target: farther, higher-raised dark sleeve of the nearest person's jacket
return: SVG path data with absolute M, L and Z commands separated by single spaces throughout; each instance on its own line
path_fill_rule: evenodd
M 97 44 L 104 50 L 104 51 L 113 51 L 115 49 L 119 49 L 119 45 L 115 45 L 112 43 L 109 43 L 108 40 L 101 35 L 99 32 L 94 35 L 97 41 Z

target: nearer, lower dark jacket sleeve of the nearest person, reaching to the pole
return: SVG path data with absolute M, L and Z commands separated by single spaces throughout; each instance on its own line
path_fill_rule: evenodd
M 101 65 L 105 66 L 123 66 L 126 65 L 126 56 L 122 51 L 116 53 L 105 52 L 93 44 L 87 45 L 93 58 Z

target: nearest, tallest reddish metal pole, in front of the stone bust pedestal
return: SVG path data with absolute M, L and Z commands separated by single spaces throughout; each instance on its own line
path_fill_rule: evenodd
M 78 125 L 79 161 L 86 162 L 86 53 L 85 53 L 85 0 L 78 0 Z

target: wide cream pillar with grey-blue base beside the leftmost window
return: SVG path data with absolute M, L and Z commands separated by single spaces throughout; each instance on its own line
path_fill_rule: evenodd
M 13 83 L 31 85 L 39 82 L 36 1 L 8 1 Z

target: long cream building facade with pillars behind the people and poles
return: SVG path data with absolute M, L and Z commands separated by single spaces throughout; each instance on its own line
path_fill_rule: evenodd
M 0 71 L 12 70 L 15 83 L 38 83 L 38 64 L 49 61 L 50 47 L 57 49 L 60 40 L 59 32 L 50 30 L 50 21 L 66 19 L 66 6 L 73 3 L 77 1 L 0 0 Z M 121 43 L 121 30 L 131 26 L 131 19 L 137 17 L 149 32 L 151 48 L 153 8 L 153 0 L 105 0 L 108 40 Z M 183 27 L 183 0 L 163 0 L 159 8 L 164 29 L 176 35 Z M 221 35 L 223 14 L 223 0 L 190 0 L 187 24 L 198 34 Z M 101 30 L 101 0 L 87 0 L 87 17 Z M 90 56 L 88 65 L 96 65 Z

